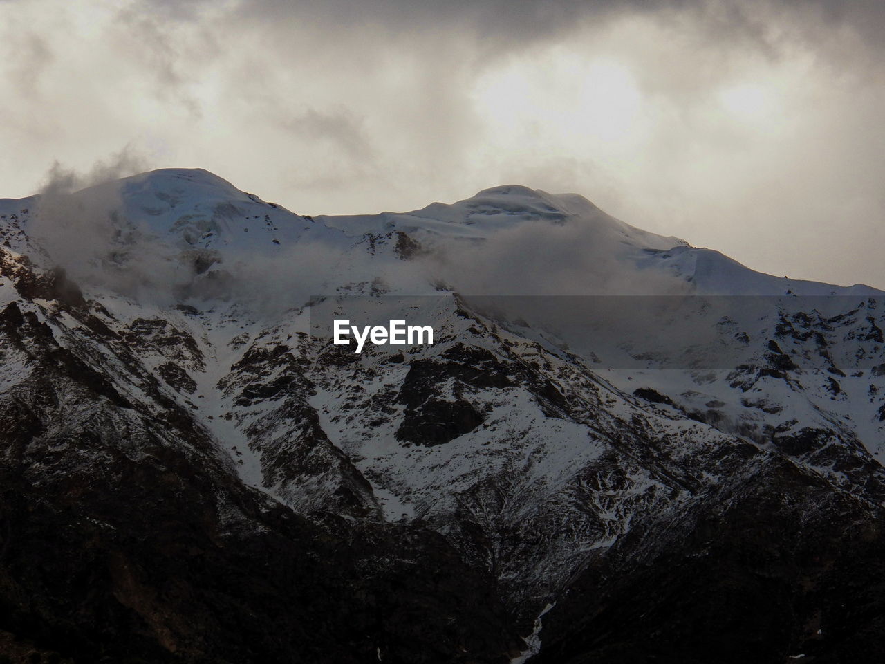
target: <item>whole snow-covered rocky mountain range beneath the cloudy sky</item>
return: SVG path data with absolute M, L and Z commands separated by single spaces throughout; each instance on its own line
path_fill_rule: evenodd
M 885 653 L 881 291 L 518 186 L 311 218 L 166 169 L 0 244 L 16 657 Z M 435 343 L 318 334 L 395 313 Z

